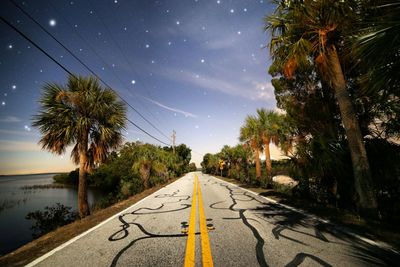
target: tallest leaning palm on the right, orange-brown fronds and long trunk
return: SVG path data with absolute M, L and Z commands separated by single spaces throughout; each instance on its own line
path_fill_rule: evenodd
M 338 53 L 345 42 L 343 33 L 353 27 L 357 8 L 355 0 L 282 0 L 266 18 L 266 29 L 271 32 L 275 68 L 280 66 L 286 78 L 314 64 L 323 82 L 334 90 L 353 163 L 357 207 L 365 215 L 376 216 L 367 153 Z

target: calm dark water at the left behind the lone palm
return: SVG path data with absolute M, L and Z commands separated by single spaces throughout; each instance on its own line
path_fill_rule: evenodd
M 61 203 L 77 210 L 76 188 L 22 189 L 23 186 L 53 183 L 54 174 L 19 175 L 0 177 L 0 255 L 11 252 L 30 242 L 33 221 L 25 216 L 46 206 Z M 88 200 L 92 205 L 102 194 L 89 189 Z

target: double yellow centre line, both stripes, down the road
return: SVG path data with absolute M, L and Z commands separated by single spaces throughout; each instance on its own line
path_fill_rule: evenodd
M 212 267 L 213 261 L 211 256 L 210 240 L 208 239 L 208 230 L 206 218 L 203 208 L 203 197 L 201 196 L 200 184 L 197 175 L 194 176 L 192 208 L 190 211 L 188 238 L 186 242 L 186 254 L 184 267 L 195 266 L 195 248 L 196 248 L 196 204 L 199 198 L 199 221 L 201 236 L 201 258 L 203 267 Z

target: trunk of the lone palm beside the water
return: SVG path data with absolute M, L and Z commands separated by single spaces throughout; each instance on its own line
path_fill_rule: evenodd
M 82 218 L 88 216 L 90 214 L 89 204 L 87 200 L 87 166 L 88 166 L 88 158 L 87 158 L 87 135 L 79 148 L 79 185 L 78 185 L 78 210 L 79 216 Z

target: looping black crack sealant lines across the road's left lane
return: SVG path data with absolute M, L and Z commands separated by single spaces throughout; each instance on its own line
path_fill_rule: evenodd
M 135 226 L 137 227 L 143 234 L 144 236 L 136 238 L 134 240 L 132 240 L 131 242 L 129 242 L 128 245 L 126 245 L 124 248 L 122 248 L 113 258 L 110 266 L 116 266 L 118 263 L 118 260 L 120 259 L 120 257 L 122 256 L 122 254 L 124 254 L 124 252 L 126 250 L 128 250 L 129 248 L 131 248 L 133 245 L 135 245 L 138 241 L 141 240 L 145 240 L 145 239 L 151 239 L 151 238 L 176 238 L 176 237 L 186 237 L 187 234 L 153 234 L 148 232 L 143 225 L 136 223 L 136 219 L 138 219 L 140 216 L 143 215 L 148 215 L 148 214 L 161 214 L 161 213 L 172 213 L 172 212 L 176 212 L 176 211 L 181 211 L 181 210 L 185 210 L 187 208 L 190 208 L 191 205 L 190 204 L 181 204 L 181 208 L 178 209 L 173 209 L 173 210 L 161 210 L 162 208 L 164 208 L 164 206 L 166 204 L 173 204 L 173 203 L 179 203 L 181 201 L 185 201 L 185 200 L 189 200 L 190 196 L 188 195 L 177 195 L 179 193 L 179 190 L 173 192 L 172 194 L 161 194 L 161 195 L 157 195 L 155 196 L 155 198 L 179 198 L 177 201 L 171 201 L 171 202 L 165 202 L 162 203 L 159 207 L 157 208 L 139 208 L 136 209 L 132 212 L 128 212 L 128 213 L 124 213 L 122 215 L 120 215 L 118 217 L 118 220 L 122 223 L 120 225 L 121 229 L 118 230 L 117 232 L 113 233 L 108 240 L 111 242 L 115 242 L 115 241 L 119 241 L 122 239 L 125 239 L 126 237 L 129 236 L 129 231 L 128 228 L 130 228 L 131 226 Z M 144 211 L 149 211 L 149 212 L 144 212 Z M 128 216 L 128 215 L 136 215 L 135 218 L 133 218 L 132 220 L 130 220 L 129 222 L 127 220 L 125 220 L 124 217 Z M 196 233 L 196 235 L 199 233 Z

